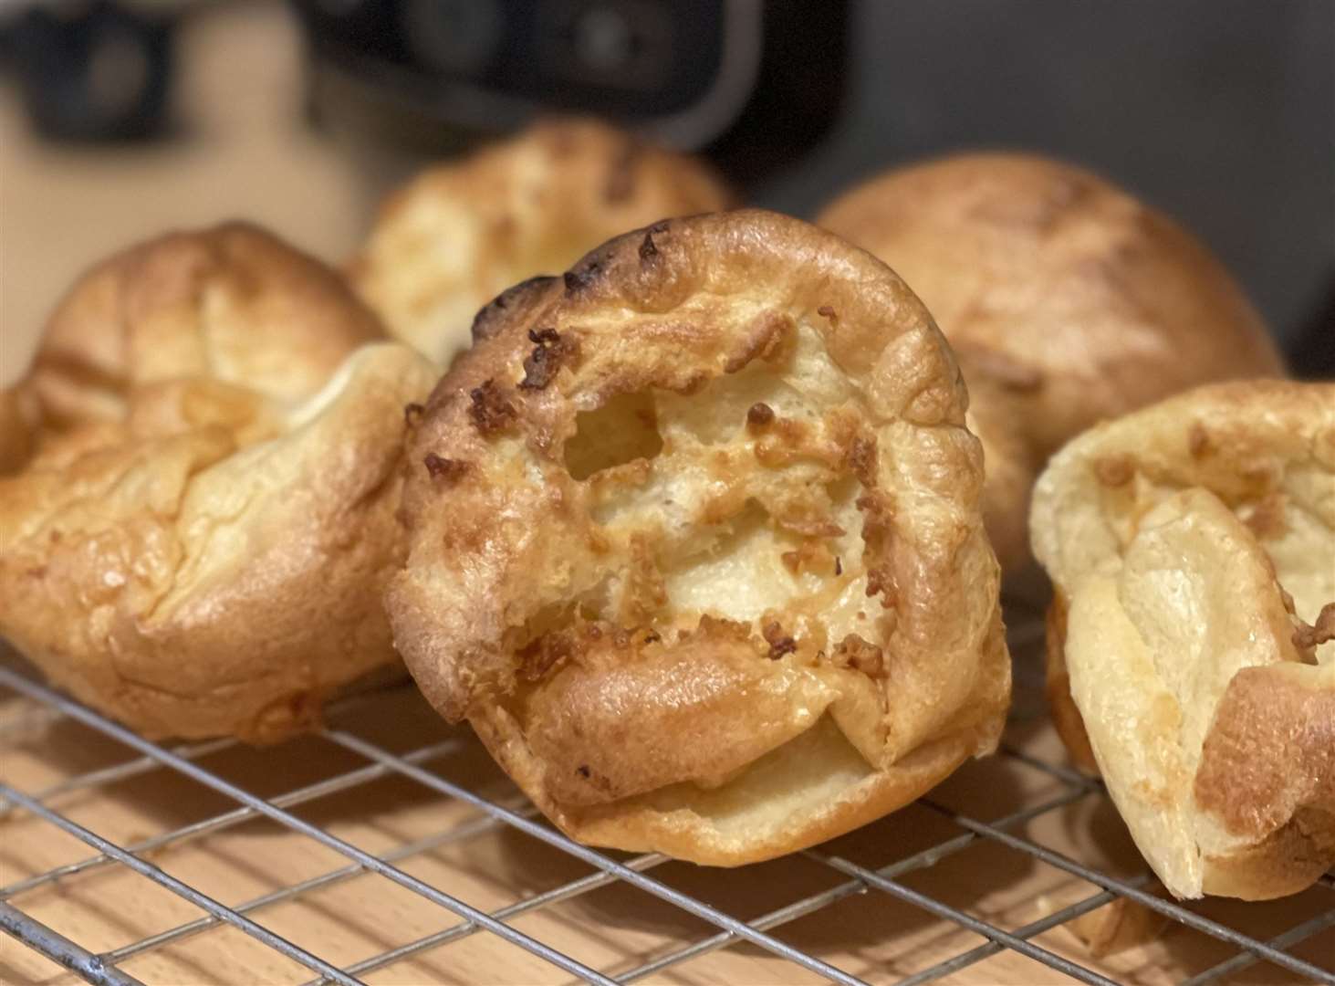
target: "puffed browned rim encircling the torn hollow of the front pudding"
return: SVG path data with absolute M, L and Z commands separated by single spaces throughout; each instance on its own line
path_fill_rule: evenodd
M 860 599 L 877 596 L 882 616 L 874 619 L 882 629 L 892 627 L 860 641 L 876 652 L 874 667 L 884 673 L 864 675 L 854 659 L 841 668 L 817 667 L 825 655 L 813 655 L 802 633 L 776 637 L 774 627 L 760 625 L 764 617 L 729 620 L 728 612 L 693 611 L 676 620 L 650 612 L 634 625 L 605 615 L 569 616 L 555 631 L 550 623 L 535 628 L 593 584 L 638 564 L 634 538 L 618 542 L 590 517 L 599 477 L 574 480 L 563 462 L 579 413 L 650 390 L 709 402 L 712 389 L 733 374 L 781 375 L 804 333 L 846 389 L 841 406 L 817 407 L 826 425 L 842 421 L 844 428 L 841 434 L 826 428 L 825 452 L 812 438 L 814 425 L 789 430 L 810 438 L 805 445 L 794 440 L 802 454 L 828 457 L 828 476 L 856 476 L 861 484 L 864 558 L 844 577 Z M 965 758 L 995 747 L 1009 701 L 1009 659 L 1000 572 L 979 513 L 981 457 L 964 426 L 967 394 L 951 350 L 893 271 L 828 232 L 772 212 L 677 219 L 609 242 L 563 279 L 535 279 L 505 293 L 479 313 L 474 337 L 474 349 L 437 386 L 410 444 L 410 556 L 387 605 L 395 643 L 427 699 L 447 719 L 466 716 L 561 828 L 586 842 L 738 864 L 884 815 Z M 778 424 L 768 407 L 752 412 L 745 412 L 746 428 Z M 769 448 L 765 441 L 737 448 L 745 457 L 733 461 L 729 476 L 768 476 L 746 465 Z M 634 485 L 654 468 L 639 460 L 609 473 Z M 697 517 L 686 529 L 706 524 Z M 697 616 L 704 617 L 698 627 Z M 818 619 L 801 624 L 784 612 L 776 623 L 810 628 Z M 546 648 L 553 639 L 563 649 Z M 538 685 L 530 684 L 534 653 L 546 659 L 535 672 Z M 788 790 L 798 783 L 788 772 L 809 772 L 802 758 L 824 750 L 816 737 L 828 717 L 825 725 L 806 723 L 817 728 L 797 742 L 769 754 L 753 750 L 738 772 L 737 762 L 722 763 L 736 736 L 724 727 L 710 732 L 714 720 L 705 713 L 674 719 L 670 701 L 650 697 L 659 692 L 646 683 L 676 679 L 607 684 L 623 667 L 641 667 L 637 661 L 677 661 L 672 673 L 704 689 L 698 705 L 732 695 L 693 671 L 697 657 L 701 667 L 736 660 L 742 676 L 762 669 L 754 671 L 760 683 L 752 681 L 760 691 L 745 692 L 752 697 L 732 707 L 729 721 L 764 704 L 756 696 L 765 688 L 789 696 L 789 704 L 801 681 L 814 681 L 817 691 L 846 689 L 838 701 L 853 696 L 852 704 L 864 705 L 829 707 L 845 735 L 857 732 L 846 721 L 865 715 L 869 725 L 852 740 L 861 758 L 844 744 L 848 756 L 833 758 L 838 770 Z M 619 715 L 590 711 L 590 691 L 579 692 L 582 676 L 602 683 L 601 692 L 590 685 L 593 693 L 631 704 Z M 567 681 L 575 684 L 566 688 Z M 537 707 L 535 693 L 550 711 L 542 692 L 549 685 L 575 697 L 545 720 L 557 723 L 555 737 L 551 729 L 539 737 L 521 720 L 526 701 Z M 575 719 L 594 723 L 590 735 L 602 746 L 585 742 Z M 566 751 L 578 756 L 563 758 Z M 824 771 L 829 758 L 821 756 Z M 673 775 L 685 783 L 649 790 L 645 778 L 662 780 L 659 762 L 674 758 L 708 763 Z M 849 770 L 849 758 L 857 766 L 836 776 Z M 615 796 L 619 784 L 631 794 Z M 748 826 L 729 828 L 733 810 Z

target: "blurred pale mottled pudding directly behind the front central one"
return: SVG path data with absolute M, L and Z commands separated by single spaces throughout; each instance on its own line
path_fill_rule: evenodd
M 418 175 L 386 202 L 351 273 L 394 335 L 449 365 L 473 315 L 510 285 L 730 200 L 700 160 L 593 120 L 547 120 Z

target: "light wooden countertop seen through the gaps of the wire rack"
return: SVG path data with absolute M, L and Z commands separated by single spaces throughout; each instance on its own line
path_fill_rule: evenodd
M 1033 683 L 1032 656 L 1021 684 Z M 1024 668 L 1028 667 L 1025 672 Z M 509 780 L 466 729 L 445 725 L 410 687 L 375 693 L 336 713 L 346 729 L 396 754 L 443 743 L 425 766 L 470 791 L 522 807 Z M 1007 742 L 1049 763 L 1061 763 L 1041 700 L 1023 687 Z M 0 780 L 39 792 L 89 771 L 134 760 L 132 751 L 69 720 L 51 721 L 28 699 L 0 689 Z M 275 796 L 366 766 L 366 760 L 322 737 L 268 750 L 234 746 L 199 763 L 246 790 Z M 932 799 L 981 820 L 1055 799 L 1071 788 L 1015 756 L 973 762 L 932 792 Z M 119 844 L 131 844 L 234 808 L 224 796 L 167 768 L 148 770 L 103 787 L 47 799 L 67 818 Z M 594 870 L 531 836 L 487 822 L 473 807 L 402 776 L 383 776 L 312 799 L 292 811 L 374 854 L 402 852 L 426 839 L 422 851 L 398 860 L 407 872 L 485 910 L 514 905 Z M 914 804 L 857 832 L 794 855 L 741 870 L 712 870 L 665 862 L 649 872 L 742 919 L 786 906 L 846 882 L 822 856 L 881 867 L 959 836 L 961 828 L 939 811 Z M 1133 876 L 1143 864 L 1120 819 L 1101 794 L 1016 826 L 1015 834 L 1091 866 Z M 51 867 L 95 855 L 87 846 L 23 811 L 0 815 L 0 883 L 8 886 Z M 312 839 L 270 820 L 246 820 L 192 840 L 175 842 L 146 858 L 215 899 L 236 906 L 300 880 L 339 870 L 347 860 Z M 908 872 L 904 886 L 1013 931 L 1055 909 L 1097 892 L 1097 887 L 995 842 L 977 839 L 941 862 Z M 93 951 L 116 949 L 200 917 L 200 910 L 123 866 L 89 870 L 11 898 L 24 913 Z M 1287 900 L 1246 905 L 1207 900 L 1193 910 L 1251 934 L 1270 937 L 1335 906 L 1335 894 L 1315 887 Z M 458 923 L 442 907 L 362 872 L 251 917 L 323 959 L 346 966 Z M 514 919 L 514 926 L 609 974 L 625 973 L 716 929 L 641 890 L 611 883 Z M 877 890 L 854 892 L 774 929 L 778 938 L 874 983 L 896 982 L 985 939 L 949 921 Z M 1169 983 L 1228 958 L 1232 950 L 1173 925 L 1161 938 L 1095 959 L 1071 926 L 1033 939 L 1119 982 Z M 1327 930 L 1296 949 L 1331 965 L 1335 933 Z M 230 927 L 214 927 L 158 950 L 127 958 L 120 967 L 148 983 L 299 983 L 308 970 Z M 538 983 L 570 977 L 519 947 L 483 931 L 364 974 L 372 983 Z M 75 977 L 0 937 L 0 982 L 64 983 Z M 752 945 L 733 945 L 678 966 L 650 982 L 806 983 L 818 977 Z M 944 982 L 1048 983 L 1064 977 L 1012 951 L 968 966 Z M 1287 983 L 1299 978 L 1255 965 L 1230 982 Z

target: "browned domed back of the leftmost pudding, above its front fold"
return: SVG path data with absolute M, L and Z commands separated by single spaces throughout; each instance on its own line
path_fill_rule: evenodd
M 159 236 L 80 277 L 47 322 L 24 387 L 47 429 L 123 421 L 131 390 L 182 378 L 296 401 L 382 338 L 335 271 L 231 222 Z

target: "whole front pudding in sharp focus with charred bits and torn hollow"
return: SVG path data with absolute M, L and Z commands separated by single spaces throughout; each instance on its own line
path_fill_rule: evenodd
M 888 267 L 764 211 L 478 315 L 409 450 L 395 643 L 585 842 L 738 864 L 989 752 L 1009 701 L 965 391 Z

